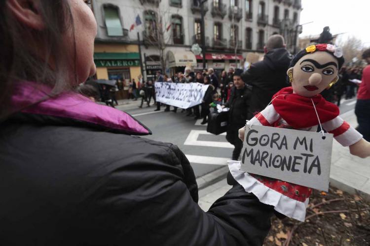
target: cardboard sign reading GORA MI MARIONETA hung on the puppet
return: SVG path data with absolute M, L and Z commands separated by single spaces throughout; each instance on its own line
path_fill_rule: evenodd
M 247 125 L 241 170 L 328 191 L 333 134 Z

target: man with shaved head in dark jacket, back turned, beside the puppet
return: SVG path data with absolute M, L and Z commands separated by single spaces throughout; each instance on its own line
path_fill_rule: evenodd
M 272 35 L 264 51 L 263 61 L 252 64 L 242 74 L 243 81 L 253 86 L 249 109 L 253 114 L 262 111 L 276 92 L 289 86 L 286 76 L 293 57 L 285 48 L 284 37 Z

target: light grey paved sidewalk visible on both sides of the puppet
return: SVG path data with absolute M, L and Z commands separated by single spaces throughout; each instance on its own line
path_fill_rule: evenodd
M 340 117 L 351 126 L 357 126 L 354 110 L 350 110 Z M 200 186 L 198 204 L 204 211 L 208 211 L 211 205 L 231 188 L 226 183 L 224 168 L 216 170 L 216 172 L 223 175 L 218 179 L 223 178 L 221 181 L 206 187 L 198 183 Z M 212 175 L 214 174 L 208 174 L 208 178 Z M 205 181 L 202 178 L 198 178 L 197 182 L 203 184 Z M 359 194 L 365 200 L 370 201 L 370 157 L 362 159 L 351 155 L 348 147 L 342 147 L 333 140 L 330 184 L 350 194 Z

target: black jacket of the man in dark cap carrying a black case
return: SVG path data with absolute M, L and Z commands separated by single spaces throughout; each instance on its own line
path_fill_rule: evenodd
M 231 89 L 230 98 L 224 104 L 229 110 L 229 124 L 228 127 L 240 128 L 250 120 L 253 115 L 249 111 L 251 100 L 251 90 L 247 85 L 243 89 L 237 90 L 234 86 Z

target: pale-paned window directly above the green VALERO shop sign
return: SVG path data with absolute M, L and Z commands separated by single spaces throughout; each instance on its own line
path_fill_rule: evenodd
M 121 18 L 119 9 L 114 5 L 104 5 L 104 20 L 107 27 L 108 36 L 123 36 Z

